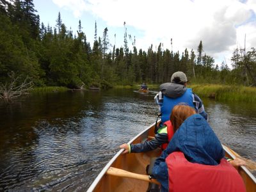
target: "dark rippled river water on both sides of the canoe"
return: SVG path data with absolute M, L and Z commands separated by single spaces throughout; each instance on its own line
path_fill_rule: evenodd
M 65 92 L 0 103 L 0 191 L 86 191 L 118 146 L 156 121 L 155 94 Z M 221 143 L 256 161 L 256 105 L 203 100 Z

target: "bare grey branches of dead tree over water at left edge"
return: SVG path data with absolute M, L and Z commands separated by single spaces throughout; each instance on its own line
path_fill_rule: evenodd
M 0 83 L 0 99 L 5 102 L 11 102 L 12 99 L 20 97 L 20 95 L 29 94 L 29 90 L 33 88 L 33 82 L 26 77 L 22 83 L 19 83 L 20 76 L 15 76 L 14 72 L 8 74 L 10 82 Z

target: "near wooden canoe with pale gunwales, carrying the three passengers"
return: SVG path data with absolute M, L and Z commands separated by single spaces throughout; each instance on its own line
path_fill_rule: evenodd
M 148 136 L 154 136 L 154 124 L 150 125 L 147 128 L 147 131 L 141 132 L 132 139 L 129 143 L 141 143 L 148 139 Z M 226 148 L 223 147 L 226 151 L 226 156 L 234 159 L 234 156 L 227 152 Z M 120 168 L 132 173 L 140 173 L 146 175 L 146 166 L 150 163 L 150 158 L 158 157 L 161 154 L 161 150 L 157 149 L 151 152 L 146 153 L 132 153 L 132 154 L 120 154 L 119 156 L 113 157 L 112 161 L 106 165 L 102 170 L 103 176 L 100 178 L 95 179 L 92 186 L 88 189 L 90 191 L 147 191 L 148 182 L 137 180 L 137 179 L 130 179 L 124 177 L 116 177 L 113 175 L 105 174 L 106 170 L 108 170 L 109 166 Z M 238 169 L 239 174 L 244 180 L 244 184 L 246 186 L 247 192 L 256 192 L 256 182 L 255 177 L 252 173 L 248 172 L 248 170 L 243 166 Z M 99 176 L 98 176 L 99 177 Z

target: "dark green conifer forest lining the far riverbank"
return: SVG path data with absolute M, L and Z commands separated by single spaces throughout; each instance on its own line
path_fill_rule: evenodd
M 181 70 L 196 83 L 256 84 L 256 52 L 244 49 L 234 51 L 232 67 L 204 54 L 202 41 L 198 50 L 180 53 L 152 45 L 147 52 L 136 48 L 135 37 L 129 50 L 127 28 L 124 22 L 124 47 L 110 46 L 108 28 L 91 46 L 82 31 L 79 20 L 77 33 L 68 30 L 59 13 L 56 26 L 40 24 L 32 0 L 15 0 L 13 4 L 0 3 L 0 82 L 8 81 L 15 72 L 29 76 L 36 86 L 68 86 L 81 84 L 108 88 L 114 84 L 164 83 L 173 72 Z M 128 36 L 128 37 L 127 37 Z M 113 49 L 112 49 L 113 48 Z

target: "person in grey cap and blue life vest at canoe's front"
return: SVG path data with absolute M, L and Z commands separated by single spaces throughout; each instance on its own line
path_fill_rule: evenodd
M 184 72 L 175 72 L 172 74 L 171 83 L 160 85 L 160 92 L 154 97 L 159 105 L 161 121 L 166 122 L 172 111 L 172 108 L 180 102 L 185 102 L 188 106 L 196 109 L 196 113 L 202 115 L 207 120 L 207 113 L 200 97 L 187 88 L 188 78 Z

